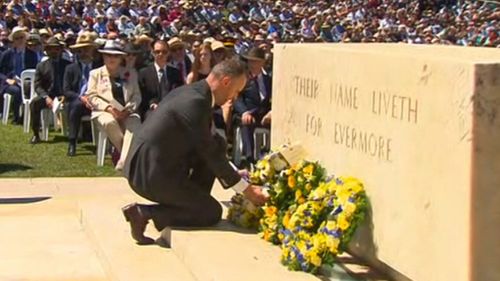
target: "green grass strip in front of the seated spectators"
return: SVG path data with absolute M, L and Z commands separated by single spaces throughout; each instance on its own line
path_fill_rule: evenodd
M 22 126 L 0 123 L 0 177 L 105 177 L 119 176 L 109 155 L 103 167 L 97 167 L 95 146 L 77 145 L 76 156 L 68 157 L 67 138 L 60 131 L 50 132 L 49 141 L 32 145 L 32 133 Z

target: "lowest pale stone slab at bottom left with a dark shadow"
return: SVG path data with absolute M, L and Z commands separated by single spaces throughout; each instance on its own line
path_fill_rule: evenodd
M 108 280 L 74 202 L 0 198 L 0 280 Z

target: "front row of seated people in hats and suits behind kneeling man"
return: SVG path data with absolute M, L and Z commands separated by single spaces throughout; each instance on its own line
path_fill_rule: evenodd
M 45 45 L 46 58 L 36 63 L 23 46 L 26 33 L 16 31 L 11 38 L 11 48 L 0 57 L 0 85 L 3 87 L 0 93 L 14 97 L 14 122 L 21 120 L 18 109 L 22 95 L 18 77 L 23 69 L 36 68 L 37 96 L 30 104 L 33 120 L 31 143 L 40 142 L 42 109 L 52 108 L 54 99 L 64 96 L 69 119 L 68 156 L 76 154 L 81 119 L 90 114 L 106 131 L 116 150 L 121 152 L 117 169 L 123 166 L 133 132 L 141 122 L 154 118 L 152 113 L 162 98 L 176 87 L 204 79 L 216 63 L 227 58 L 216 55 L 213 50 L 220 48 L 218 42 L 207 42 L 195 51 L 192 62 L 182 41 L 177 38 L 169 42 L 158 39 L 151 44 L 152 63 L 137 71 L 135 60 L 141 49 L 133 44 L 123 47 L 113 40 L 108 40 L 98 49 L 96 38 L 91 33 L 82 33 L 76 44 L 70 46 L 75 62 L 62 58 L 63 45 L 53 37 Z M 182 66 L 172 64 L 169 58 L 185 63 Z M 232 125 L 241 125 L 243 154 L 252 161 L 252 131 L 258 126 L 269 126 L 271 120 L 271 79 L 263 71 L 266 58 L 262 49 L 251 49 L 242 59 L 248 61 L 250 70 L 247 86 L 234 103 L 228 102 L 215 111 L 214 122 L 228 135 L 231 135 Z M 232 124 L 233 120 L 238 124 Z

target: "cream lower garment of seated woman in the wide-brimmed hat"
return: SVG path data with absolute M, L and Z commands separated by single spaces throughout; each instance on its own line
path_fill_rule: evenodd
M 97 116 L 97 123 L 104 128 L 111 143 L 120 151 L 120 161 L 125 161 L 133 134 L 141 125 L 139 115 L 130 114 L 126 119 L 117 121 L 111 113 L 102 112 Z

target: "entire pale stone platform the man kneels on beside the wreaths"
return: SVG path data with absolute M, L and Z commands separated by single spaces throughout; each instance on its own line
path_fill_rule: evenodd
M 224 205 L 232 192 L 214 195 Z M 159 245 L 139 246 L 120 211 L 134 201 L 145 202 L 121 178 L 0 180 L 0 280 L 385 280 L 350 257 L 329 277 L 290 272 L 278 247 L 225 221 L 162 233 L 150 224 Z

